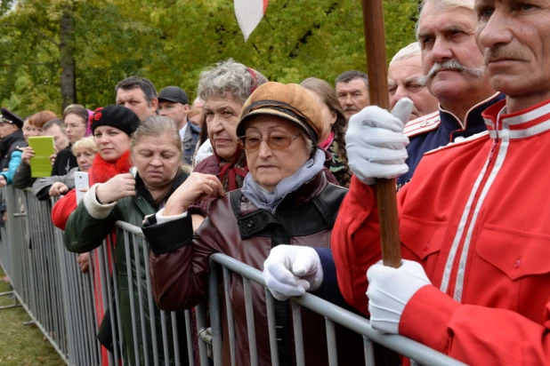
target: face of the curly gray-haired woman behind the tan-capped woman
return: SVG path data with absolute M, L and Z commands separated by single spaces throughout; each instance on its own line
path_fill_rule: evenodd
M 206 100 L 204 107 L 208 138 L 215 153 L 228 162 L 231 162 L 237 151 L 236 130 L 242 107 L 230 95 L 227 98 L 212 96 Z

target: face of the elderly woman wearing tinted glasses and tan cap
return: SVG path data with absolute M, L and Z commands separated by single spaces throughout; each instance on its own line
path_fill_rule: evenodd
M 304 133 L 295 123 L 276 115 L 251 118 L 239 143 L 245 148 L 248 169 L 258 185 L 274 191 L 282 179 L 293 175 L 310 158 L 311 147 Z

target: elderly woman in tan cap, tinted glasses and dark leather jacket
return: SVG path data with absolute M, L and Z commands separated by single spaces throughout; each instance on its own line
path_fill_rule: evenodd
M 321 131 L 319 107 L 301 86 L 267 83 L 252 93 L 237 126 L 249 168 L 243 187 L 223 195 L 214 175 L 193 173 L 164 210 L 144 224 L 143 234 L 152 251 L 152 288 L 159 308 L 181 310 L 205 300 L 208 258 L 214 253 L 227 254 L 262 270 L 263 261 L 279 244 L 330 247 L 332 227 L 347 189 L 328 183 L 330 173 L 325 165 L 330 157 L 317 147 Z M 193 235 L 187 207 L 214 196 L 220 197 L 211 203 L 208 218 Z M 252 291 L 258 363 L 269 365 L 265 293 L 255 283 Z M 237 364 L 245 365 L 250 358 L 239 275 L 231 277 L 230 298 L 236 322 Z M 292 364 L 294 342 L 288 303 L 276 301 L 275 309 L 279 362 Z M 229 364 L 229 337 L 222 327 L 223 359 Z M 340 364 L 361 362 L 362 339 L 344 332 L 339 329 L 337 336 Z M 327 344 L 324 321 L 319 315 L 303 311 L 303 340 L 308 364 L 328 364 L 323 351 Z M 343 351 L 346 346 L 357 346 L 355 354 Z

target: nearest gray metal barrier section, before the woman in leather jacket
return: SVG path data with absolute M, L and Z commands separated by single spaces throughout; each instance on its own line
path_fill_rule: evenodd
M 213 346 L 214 346 L 214 365 L 221 365 L 222 364 L 222 324 L 221 324 L 221 309 L 220 309 L 220 303 L 219 303 L 219 295 L 218 295 L 218 273 L 217 267 L 222 266 L 223 272 L 222 272 L 222 278 L 224 287 L 227 289 L 226 283 L 229 283 L 230 281 L 230 271 L 232 273 L 235 273 L 237 275 L 241 275 L 243 277 L 243 281 L 252 281 L 261 284 L 262 286 L 265 286 L 265 282 L 263 281 L 262 272 L 258 271 L 257 269 L 253 267 L 249 267 L 241 262 L 239 262 L 237 259 L 233 259 L 231 257 L 228 257 L 223 254 L 214 254 L 212 257 L 210 257 L 210 277 L 209 277 L 209 298 L 210 298 L 210 314 L 211 314 L 211 322 L 212 322 L 212 334 L 213 334 Z M 246 283 L 246 282 L 245 282 Z M 245 286 L 245 290 L 247 287 Z M 225 296 L 228 296 L 229 291 L 224 291 Z M 266 295 L 268 295 L 269 291 L 266 290 Z M 251 297 L 249 294 L 247 294 L 247 291 L 245 291 L 245 300 L 246 302 L 251 302 Z M 225 300 L 227 301 L 227 300 Z M 271 297 L 271 294 L 266 296 L 267 301 L 267 314 L 268 314 L 268 323 L 269 323 L 269 335 L 270 335 L 270 345 L 271 345 L 271 355 L 277 354 L 277 349 L 274 347 L 277 343 L 277 340 L 274 339 L 276 337 L 275 332 L 275 324 L 274 324 L 274 316 L 273 316 L 273 298 Z M 326 300 L 323 300 L 322 298 L 317 298 L 309 293 L 306 293 L 305 295 L 299 297 L 299 298 L 291 298 L 292 301 L 292 312 L 293 312 L 293 319 L 294 319 L 294 332 L 295 332 L 295 354 L 296 354 L 296 364 L 301 365 L 304 364 L 303 359 L 303 341 L 307 341 L 307 339 L 303 339 L 301 335 L 301 315 L 300 315 L 300 306 L 303 306 L 304 308 L 310 309 L 311 311 L 320 314 L 325 317 L 326 324 L 327 324 L 327 341 L 328 341 L 328 361 L 329 364 L 336 365 L 337 364 L 337 350 L 336 350 L 336 336 L 335 336 L 335 330 L 334 330 L 334 323 L 338 323 L 343 325 L 344 327 L 353 330 L 360 335 L 363 336 L 365 339 L 365 362 L 367 365 L 374 365 L 374 353 L 372 351 L 372 344 L 371 342 L 374 341 L 382 346 L 385 346 L 387 348 L 392 349 L 393 351 L 403 354 L 404 356 L 410 358 L 411 360 L 414 360 L 416 362 L 419 362 L 421 364 L 429 364 L 429 365 L 464 365 L 462 362 L 457 362 L 457 360 L 454 360 L 450 358 L 449 356 L 445 354 L 440 354 L 433 349 L 421 345 L 411 339 L 404 338 L 401 336 L 387 336 L 383 335 L 377 330 L 373 330 L 370 326 L 370 323 L 367 319 L 357 315 L 353 314 L 339 306 L 335 306 L 334 304 L 329 303 Z M 234 335 L 234 329 L 235 324 L 231 324 L 231 322 L 234 322 L 232 319 L 232 316 L 230 316 L 231 312 L 231 306 L 229 303 L 227 303 L 226 311 L 228 312 L 228 330 L 230 332 L 230 339 L 235 337 Z M 270 321 L 271 319 L 271 321 Z M 252 322 L 252 329 L 254 329 L 254 319 L 252 316 L 248 315 L 247 312 L 247 328 L 248 330 L 251 329 L 251 322 Z M 254 333 L 248 332 L 249 338 L 254 338 Z M 234 341 L 233 341 L 234 342 Z M 253 361 L 252 354 L 255 354 L 255 340 L 251 339 L 251 342 L 249 342 L 250 347 L 250 355 L 251 355 L 251 362 Z M 234 352 L 234 346 L 231 346 L 231 352 Z M 275 362 L 276 358 L 272 358 Z M 231 358 L 231 364 L 235 365 L 233 358 Z M 277 364 L 273 362 L 273 364 Z

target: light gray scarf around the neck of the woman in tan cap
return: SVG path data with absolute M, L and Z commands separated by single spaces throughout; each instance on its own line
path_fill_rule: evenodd
M 240 191 L 257 208 L 275 212 L 277 206 L 286 195 L 302 187 L 303 183 L 310 181 L 319 171 L 323 170 L 325 159 L 325 153 L 318 148 L 315 155 L 303 163 L 298 171 L 290 177 L 282 179 L 273 192 L 269 192 L 257 185 L 252 178 L 252 174 L 248 173 Z

